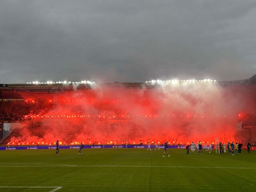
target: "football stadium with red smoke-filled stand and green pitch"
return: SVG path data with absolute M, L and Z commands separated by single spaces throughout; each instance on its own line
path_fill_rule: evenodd
M 255 190 L 256 75 L 0 86 L 0 191 Z

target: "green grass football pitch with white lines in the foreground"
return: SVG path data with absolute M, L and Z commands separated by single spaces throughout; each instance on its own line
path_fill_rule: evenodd
M 0 151 L 0 192 L 255 192 L 256 152 L 185 149 Z

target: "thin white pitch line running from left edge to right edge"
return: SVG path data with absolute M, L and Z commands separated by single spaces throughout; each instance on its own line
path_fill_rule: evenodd
M 6 165 L 0 167 L 139 167 L 139 168 L 217 168 L 217 169 L 256 169 L 254 167 L 202 167 L 202 166 L 129 166 L 129 165 L 35 165 L 35 166 L 28 166 L 28 165 Z

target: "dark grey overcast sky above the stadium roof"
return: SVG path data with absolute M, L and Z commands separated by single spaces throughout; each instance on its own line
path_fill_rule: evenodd
M 0 0 L 0 83 L 254 74 L 255 0 Z

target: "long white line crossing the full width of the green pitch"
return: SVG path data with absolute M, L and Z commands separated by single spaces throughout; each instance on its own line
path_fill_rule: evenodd
M 202 166 L 136 166 L 136 165 L 66 165 L 44 163 L 5 163 L 5 164 L 34 164 L 33 165 L 0 165 L 0 167 L 159 167 L 159 168 L 217 168 L 217 169 L 256 169 L 256 167 L 202 167 Z M 39 164 L 39 165 L 38 165 Z

